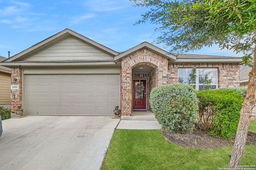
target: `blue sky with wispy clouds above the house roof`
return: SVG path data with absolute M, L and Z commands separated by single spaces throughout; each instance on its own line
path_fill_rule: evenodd
M 153 43 L 155 25 L 133 25 L 147 8 L 133 5 L 129 0 L 0 0 L 0 55 L 6 57 L 8 50 L 11 55 L 17 54 L 65 28 L 117 52 L 143 41 Z M 241 56 L 218 46 L 189 53 Z

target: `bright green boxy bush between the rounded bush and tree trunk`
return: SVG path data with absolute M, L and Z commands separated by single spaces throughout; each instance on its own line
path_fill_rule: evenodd
M 198 126 L 216 137 L 230 140 L 236 133 L 243 97 L 234 90 L 197 91 Z

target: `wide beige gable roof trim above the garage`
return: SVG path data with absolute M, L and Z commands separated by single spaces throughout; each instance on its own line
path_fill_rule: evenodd
M 102 51 L 108 53 L 108 54 L 111 54 L 113 56 L 116 56 L 118 55 L 119 53 L 117 53 L 115 50 L 112 50 L 106 46 L 103 46 L 87 37 L 84 37 L 83 35 L 73 31 L 73 30 L 70 30 L 70 29 L 65 29 L 65 30 L 62 30 L 58 33 L 56 33 L 55 35 L 49 37 L 49 38 L 46 38 L 45 40 L 23 50 L 22 52 L 10 57 L 10 58 L 7 58 L 7 60 L 5 60 L 4 62 L 12 62 L 12 61 L 18 61 L 18 60 L 22 60 L 23 58 L 26 58 L 26 57 L 29 57 L 55 43 L 57 43 L 58 41 L 62 40 L 62 39 L 65 39 L 67 37 L 70 37 L 70 36 L 73 36 L 73 37 L 76 37 L 82 41 L 85 41 L 86 43 L 89 43 L 90 45 L 94 46 L 94 47 L 97 47 L 99 49 L 101 49 Z

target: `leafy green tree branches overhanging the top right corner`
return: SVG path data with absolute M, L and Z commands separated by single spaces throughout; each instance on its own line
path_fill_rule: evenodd
M 157 43 L 173 52 L 188 52 L 212 46 L 243 53 L 247 64 L 252 60 L 256 42 L 256 0 L 247 1 L 168 1 L 131 0 L 135 6 L 148 7 L 138 23 L 150 21 L 160 32 Z

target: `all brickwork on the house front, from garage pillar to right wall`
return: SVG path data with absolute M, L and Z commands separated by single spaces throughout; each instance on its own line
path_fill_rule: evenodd
M 239 64 L 177 64 L 169 63 L 167 58 L 147 48 L 142 48 L 122 58 L 121 68 L 121 113 L 122 115 L 132 114 L 132 79 L 146 78 L 147 81 L 147 102 L 151 89 L 169 83 L 178 82 L 178 68 L 209 67 L 218 69 L 218 87 L 239 87 Z M 132 74 L 132 69 L 139 65 L 153 67 L 151 72 L 143 75 Z M 12 68 L 12 84 L 18 84 L 19 90 L 11 90 L 11 112 L 22 109 L 22 69 Z M 147 103 L 147 109 L 150 109 Z

